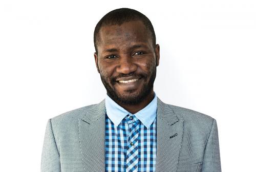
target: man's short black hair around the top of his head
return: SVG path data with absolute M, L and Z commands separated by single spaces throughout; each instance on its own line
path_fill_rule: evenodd
M 112 26 L 112 25 L 122 25 L 125 22 L 131 22 L 139 20 L 141 21 L 146 29 L 150 31 L 152 37 L 152 44 L 153 46 L 156 45 L 156 34 L 153 28 L 150 19 L 148 19 L 144 14 L 139 11 L 130 8 L 119 8 L 113 11 L 110 11 L 106 15 L 104 15 L 96 25 L 94 29 L 94 47 L 96 53 L 98 53 L 97 43 L 99 40 L 99 31 L 100 28 L 103 26 Z

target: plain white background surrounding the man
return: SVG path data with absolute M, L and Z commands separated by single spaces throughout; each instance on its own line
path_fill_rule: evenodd
M 105 97 L 93 31 L 134 8 L 160 44 L 155 92 L 218 122 L 223 171 L 256 171 L 255 1 L 1 1 L 0 171 L 39 171 L 49 118 Z

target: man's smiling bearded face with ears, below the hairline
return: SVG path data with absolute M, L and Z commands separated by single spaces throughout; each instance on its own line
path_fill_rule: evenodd
M 96 67 L 107 94 L 122 104 L 137 104 L 153 94 L 159 45 L 142 22 L 100 29 Z

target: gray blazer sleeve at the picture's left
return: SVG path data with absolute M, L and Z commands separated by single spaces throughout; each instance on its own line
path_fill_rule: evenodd
M 57 172 L 60 170 L 59 152 L 52 131 L 51 119 L 48 120 L 44 146 L 42 147 L 41 172 Z

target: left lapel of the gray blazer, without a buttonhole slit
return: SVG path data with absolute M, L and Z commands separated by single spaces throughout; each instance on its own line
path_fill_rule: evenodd
M 86 110 L 85 110 L 86 111 Z M 105 171 L 105 101 L 88 109 L 79 121 L 84 171 Z

